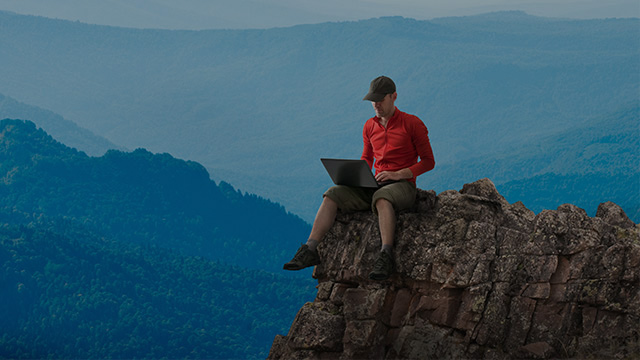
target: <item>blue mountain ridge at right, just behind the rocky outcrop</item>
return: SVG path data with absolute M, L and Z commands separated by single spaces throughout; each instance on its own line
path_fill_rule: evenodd
M 571 203 L 595 216 L 605 201 L 619 204 L 640 223 L 640 104 L 587 118 L 580 126 L 505 149 L 444 165 L 434 178 L 490 177 L 507 200 L 539 212 Z

